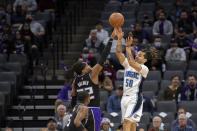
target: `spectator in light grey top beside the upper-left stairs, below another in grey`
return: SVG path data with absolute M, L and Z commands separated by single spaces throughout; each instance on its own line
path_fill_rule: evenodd
M 40 38 L 45 35 L 44 27 L 39 22 L 35 21 L 30 13 L 26 15 L 26 21 L 30 24 L 30 29 L 35 36 Z

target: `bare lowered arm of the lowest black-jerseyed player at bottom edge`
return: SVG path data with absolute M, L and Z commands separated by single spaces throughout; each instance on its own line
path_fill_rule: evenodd
M 78 129 L 84 130 L 85 127 L 81 121 L 88 117 L 88 108 L 86 106 L 79 107 L 77 116 L 75 117 L 74 124 Z

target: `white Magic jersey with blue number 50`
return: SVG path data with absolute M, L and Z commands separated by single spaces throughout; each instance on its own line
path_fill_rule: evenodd
M 138 72 L 129 65 L 127 58 L 125 58 L 125 61 L 122 65 L 125 68 L 123 95 L 138 94 L 142 77 L 146 78 L 149 72 L 148 67 L 145 65 L 141 65 L 142 70 Z

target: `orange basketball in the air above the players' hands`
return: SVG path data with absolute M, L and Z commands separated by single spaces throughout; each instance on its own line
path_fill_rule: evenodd
M 109 23 L 113 27 L 121 27 L 124 24 L 124 16 L 121 13 L 112 13 L 109 17 Z

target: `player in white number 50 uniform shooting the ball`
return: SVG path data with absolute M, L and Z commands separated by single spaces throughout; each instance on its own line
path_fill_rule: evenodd
M 142 77 L 146 78 L 149 69 L 144 65 L 148 60 L 152 59 L 150 50 L 139 51 L 137 56 L 133 57 L 131 52 L 131 44 L 133 39 L 128 38 L 126 42 L 126 55 L 122 53 L 121 39 L 124 35 L 122 29 L 116 31 L 118 37 L 116 55 L 120 64 L 124 67 L 124 83 L 123 97 L 121 100 L 121 110 L 123 119 L 123 131 L 136 131 L 136 122 L 140 121 L 143 109 L 143 98 L 140 93 L 140 83 Z

